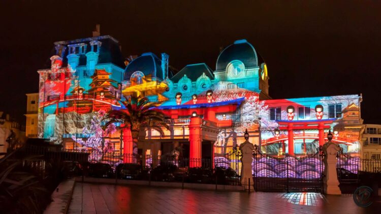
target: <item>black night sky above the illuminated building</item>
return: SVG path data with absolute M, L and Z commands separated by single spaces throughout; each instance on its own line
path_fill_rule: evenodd
M 0 111 L 24 123 L 25 93 L 53 42 L 102 35 L 125 56 L 154 52 L 170 64 L 206 62 L 247 39 L 264 58 L 270 96 L 363 94 L 365 123 L 381 124 L 381 1 L 2 1 Z

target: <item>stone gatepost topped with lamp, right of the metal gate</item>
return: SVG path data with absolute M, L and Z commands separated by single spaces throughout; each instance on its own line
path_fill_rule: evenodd
M 333 144 L 330 141 L 328 141 L 323 146 L 323 152 L 324 152 L 324 186 L 323 190 L 325 194 L 328 195 L 341 195 L 341 191 L 339 188 L 339 181 L 337 180 L 337 171 L 336 171 L 336 164 L 337 164 L 337 152 L 339 149 L 335 144 Z

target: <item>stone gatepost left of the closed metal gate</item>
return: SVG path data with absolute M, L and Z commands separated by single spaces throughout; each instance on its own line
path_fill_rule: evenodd
M 252 164 L 252 151 L 254 150 L 254 145 L 251 144 L 247 139 L 239 146 L 241 151 L 242 158 L 242 167 L 241 167 L 241 185 L 244 186 L 245 190 L 254 189 L 254 180 L 252 179 L 251 164 Z M 250 180 L 250 186 L 249 186 Z

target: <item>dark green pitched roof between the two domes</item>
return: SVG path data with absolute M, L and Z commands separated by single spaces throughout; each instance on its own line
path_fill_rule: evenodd
M 196 82 L 203 73 L 205 73 L 205 75 L 211 80 L 214 79 L 213 70 L 205 63 L 198 63 L 186 65 L 180 70 L 180 72 L 171 78 L 171 81 L 177 83 L 182 77 L 184 77 L 184 75 L 186 75 L 186 77 L 192 80 L 192 82 Z

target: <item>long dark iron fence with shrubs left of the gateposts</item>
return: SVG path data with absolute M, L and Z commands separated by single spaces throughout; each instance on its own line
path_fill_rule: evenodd
M 173 155 L 151 156 L 61 149 L 38 146 L 23 148 L 24 156 L 40 156 L 69 169 L 73 176 L 108 177 L 146 181 L 240 185 L 237 155 L 192 159 Z M 14 157 L 19 158 L 19 157 Z M 41 168 L 41 167 L 40 167 Z M 41 168 L 44 173 L 44 167 Z

